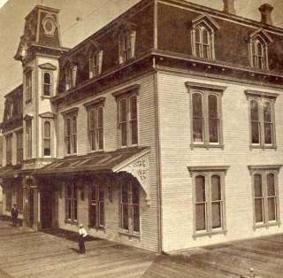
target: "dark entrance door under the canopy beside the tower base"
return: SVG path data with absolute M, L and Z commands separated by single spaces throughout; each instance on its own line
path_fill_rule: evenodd
M 52 228 L 52 212 L 53 212 L 54 192 L 41 192 L 41 221 L 42 228 Z

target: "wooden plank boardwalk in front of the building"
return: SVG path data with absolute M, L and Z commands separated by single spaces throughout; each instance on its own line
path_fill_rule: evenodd
M 239 278 L 254 267 L 263 278 L 283 277 L 283 235 L 156 255 L 93 239 L 77 252 L 76 236 L 35 233 L 0 221 L 0 278 Z

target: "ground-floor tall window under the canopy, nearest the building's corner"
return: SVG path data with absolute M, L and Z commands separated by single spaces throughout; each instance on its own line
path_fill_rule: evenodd
M 120 228 L 129 234 L 140 233 L 140 190 L 135 183 L 121 185 Z

